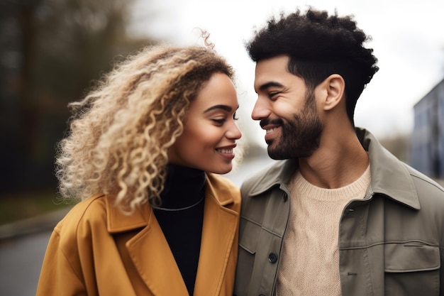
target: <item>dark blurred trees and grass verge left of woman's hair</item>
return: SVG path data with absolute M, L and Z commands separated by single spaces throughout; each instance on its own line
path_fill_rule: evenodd
M 55 144 L 67 128 L 68 102 L 81 99 L 113 60 L 153 42 L 128 33 L 132 4 L 1 0 L 2 221 L 55 205 Z

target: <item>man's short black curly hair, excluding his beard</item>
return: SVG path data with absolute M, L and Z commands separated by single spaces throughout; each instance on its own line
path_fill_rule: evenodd
M 345 80 L 347 114 L 354 125 L 357 99 L 379 70 L 371 48 L 362 43 L 370 36 L 357 28 L 353 16 L 332 16 L 327 11 L 299 9 L 287 16 L 270 18 L 267 26 L 255 32 L 245 45 L 254 62 L 288 55 L 288 70 L 301 77 L 313 90 L 332 74 Z

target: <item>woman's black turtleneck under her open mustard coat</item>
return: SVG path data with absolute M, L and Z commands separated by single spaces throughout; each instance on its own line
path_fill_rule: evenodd
M 204 221 L 205 172 L 168 165 L 160 208 L 153 207 L 189 295 L 193 295 Z

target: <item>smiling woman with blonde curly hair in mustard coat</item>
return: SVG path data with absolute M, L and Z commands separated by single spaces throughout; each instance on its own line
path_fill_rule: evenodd
M 233 70 L 204 47 L 157 45 L 118 65 L 61 141 L 63 197 L 37 295 L 232 295 L 241 136 Z

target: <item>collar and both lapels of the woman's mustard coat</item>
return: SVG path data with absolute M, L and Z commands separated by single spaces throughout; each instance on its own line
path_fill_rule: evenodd
M 218 175 L 207 174 L 205 185 L 204 226 L 194 295 L 218 295 L 226 272 L 239 214 L 230 209 L 239 202 L 234 185 L 226 185 Z M 187 295 L 162 229 L 147 205 L 131 215 L 121 213 L 106 199 L 108 231 L 118 233 L 140 229 L 126 243 L 128 253 L 140 277 L 155 295 Z M 172 284 L 174 283 L 174 284 Z

